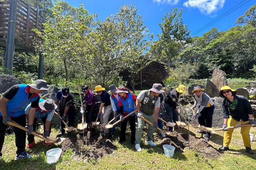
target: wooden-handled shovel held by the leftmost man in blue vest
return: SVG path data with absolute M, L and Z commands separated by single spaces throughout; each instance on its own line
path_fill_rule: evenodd
M 17 127 L 17 128 L 20 128 L 20 129 L 22 129 L 22 130 L 24 130 L 24 131 L 26 131 L 26 132 L 28 131 L 27 128 L 21 126 L 20 124 L 16 123 L 15 121 L 7 121 L 7 123 L 8 123 L 9 125 L 12 125 L 12 126 L 15 126 L 15 127 Z M 62 141 L 65 139 L 65 138 L 63 138 L 63 137 L 59 137 L 59 138 L 56 138 L 56 137 L 44 137 L 43 135 L 38 134 L 38 133 L 35 132 L 35 131 L 32 131 L 31 134 L 34 135 L 34 136 L 37 136 L 37 137 L 39 137 L 39 138 L 42 138 L 43 140 L 45 140 L 45 141 L 48 142 L 48 143 L 60 143 L 60 142 L 62 142 Z

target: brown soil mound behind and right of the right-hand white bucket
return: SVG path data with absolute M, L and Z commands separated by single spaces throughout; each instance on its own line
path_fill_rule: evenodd
M 188 134 L 172 132 L 171 135 L 176 137 L 164 138 L 161 141 L 161 145 L 172 145 L 175 147 L 175 151 L 183 152 L 185 147 L 188 147 Z M 190 149 L 193 149 L 205 158 L 218 158 L 222 153 L 218 152 L 212 145 L 204 141 L 203 139 L 196 138 L 192 135 L 190 137 Z

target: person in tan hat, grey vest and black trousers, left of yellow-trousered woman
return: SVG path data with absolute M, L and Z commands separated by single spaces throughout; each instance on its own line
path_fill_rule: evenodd
M 212 99 L 205 94 L 203 88 L 200 86 L 194 86 L 194 90 L 192 90 L 192 93 L 194 94 L 194 105 L 192 109 L 196 108 L 197 104 L 199 104 L 197 112 L 193 115 L 194 118 L 198 118 L 198 123 L 200 126 L 204 126 L 207 128 L 212 128 L 212 117 L 213 117 L 213 111 L 214 111 L 214 104 Z M 204 140 L 209 141 L 210 140 L 210 132 L 201 132 L 204 133 Z

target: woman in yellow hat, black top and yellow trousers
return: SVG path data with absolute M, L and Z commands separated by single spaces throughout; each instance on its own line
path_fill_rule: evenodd
M 223 118 L 224 124 L 222 126 L 224 132 L 223 146 L 219 148 L 220 151 L 229 150 L 229 143 L 231 141 L 234 129 L 225 129 L 230 126 L 235 126 L 241 120 L 241 125 L 251 124 L 256 125 L 251 105 L 247 98 L 244 96 L 236 95 L 236 90 L 231 89 L 229 86 L 220 88 L 219 96 L 223 97 Z M 242 127 L 241 135 L 247 153 L 254 154 L 251 149 L 251 141 L 249 131 L 251 126 Z

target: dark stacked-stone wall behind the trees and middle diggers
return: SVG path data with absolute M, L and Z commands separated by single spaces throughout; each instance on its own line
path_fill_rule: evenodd
M 166 65 L 151 61 L 150 64 L 142 69 L 142 89 L 151 89 L 154 83 L 162 84 L 162 80 L 167 77 L 165 70 Z M 127 81 L 127 87 L 131 88 L 130 74 L 128 71 L 121 72 L 120 77 L 123 77 L 123 81 Z M 135 89 L 141 90 L 141 77 L 140 72 L 137 73 L 135 78 Z

